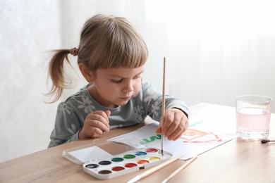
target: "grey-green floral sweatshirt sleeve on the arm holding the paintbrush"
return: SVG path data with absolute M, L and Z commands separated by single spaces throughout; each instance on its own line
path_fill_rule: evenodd
M 159 121 L 162 111 L 162 93 L 155 89 L 149 82 L 142 82 L 142 94 L 145 108 L 145 114 L 149 115 L 153 120 Z M 165 95 L 165 109 L 178 108 L 187 117 L 189 116 L 189 109 L 186 104 L 180 99 L 173 96 Z

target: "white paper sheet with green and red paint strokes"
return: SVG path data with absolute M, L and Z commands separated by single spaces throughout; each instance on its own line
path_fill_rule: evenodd
M 138 147 L 138 149 L 140 147 L 159 149 L 161 147 L 161 135 L 155 133 L 158 126 L 159 122 L 153 122 L 133 132 L 109 139 L 109 141 L 128 144 L 130 146 Z M 236 137 L 236 134 L 216 133 L 219 132 L 219 130 L 214 130 L 213 127 L 215 127 L 213 123 L 210 123 L 209 125 L 208 120 L 193 120 L 193 122 L 190 122 L 189 129 L 181 139 L 176 141 L 164 139 L 164 150 L 173 152 L 173 155 L 185 153 L 185 156 L 181 159 L 187 160 L 188 158 L 204 153 L 205 151 L 213 149 L 214 147 L 224 144 L 226 141 Z M 216 134 L 219 134 L 219 136 Z

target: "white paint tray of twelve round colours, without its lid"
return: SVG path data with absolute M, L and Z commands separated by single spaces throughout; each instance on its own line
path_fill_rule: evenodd
M 90 160 L 82 165 L 84 172 L 97 179 L 110 179 L 130 172 L 135 172 L 141 168 L 150 168 L 169 160 L 173 154 L 156 148 L 135 149 L 120 153 L 116 156 Z

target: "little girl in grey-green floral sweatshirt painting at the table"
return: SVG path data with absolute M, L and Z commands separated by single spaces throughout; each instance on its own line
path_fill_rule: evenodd
M 78 56 L 78 67 L 89 84 L 59 104 L 49 147 L 135 125 L 147 115 L 160 120 L 161 92 L 141 77 L 147 46 L 126 18 L 94 15 L 82 28 L 78 49 L 54 53 L 49 63 L 53 82 L 49 94 L 54 101 L 66 87 L 63 63 L 69 63 L 69 53 Z M 156 133 L 176 140 L 188 128 L 189 111 L 183 101 L 169 95 L 165 106 Z

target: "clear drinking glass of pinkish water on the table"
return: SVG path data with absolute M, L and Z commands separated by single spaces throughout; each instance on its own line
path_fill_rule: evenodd
M 236 97 L 237 136 L 242 139 L 267 139 L 271 97 L 242 95 Z

